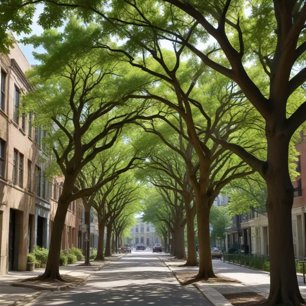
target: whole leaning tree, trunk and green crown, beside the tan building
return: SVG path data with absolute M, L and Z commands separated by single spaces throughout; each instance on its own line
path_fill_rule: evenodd
M 124 96 L 151 81 L 142 76 L 138 78 L 127 67 L 118 66 L 118 62 L 105 52 L 93 49 L 85 53 L 76 37 L 86 39 L 93 31 L 95 28 L 85 28 L 71 19 L 64 33 L 50 30 L 29 39 L 35 45 L 41 44 L 47 53 L 35 54 L 42 64 L 28 72 L 36 90 L 24 97 L 24 103 L 28 111 L 36 114 L 35 124 L 46 126 L 45 141 L 56 160 L 55 163 L 53 159 L 51 168 L 57 167 L 65 177 L 42 278 L 62 280 L 59 255 L 69 203 L 91 196 L 140 160 L 134 152 L 115 173 L 100 176 L 95 186 L 75 189 L 82 168 L 122 137 L 125 124 L 143 118 L 146 103 L 131 101 L 127 105 Z

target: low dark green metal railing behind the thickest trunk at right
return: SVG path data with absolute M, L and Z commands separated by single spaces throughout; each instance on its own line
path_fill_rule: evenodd
M 235 265 L 270 272 L 270 256 L 267 255 L 223 253 L 222 258 L 223 262 L 228 261 Z M 295 267 L 297 273 L 303 274 L 305 284 L 305 261 L 296 259 Z

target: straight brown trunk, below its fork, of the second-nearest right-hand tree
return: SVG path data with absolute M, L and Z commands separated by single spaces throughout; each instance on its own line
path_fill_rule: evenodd
M 196 200 L 196 215 L 198 219 L 199 238 L 199 273 L 198 278 L 216 278 L 212 267 L 210 235 L 209 235 L 209 205 L 207 200 Z

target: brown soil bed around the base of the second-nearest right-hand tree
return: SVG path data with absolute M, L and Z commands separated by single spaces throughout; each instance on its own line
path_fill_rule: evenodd
M 220 283 L 241 283 L 237 279 L 216 274 L 217 278 L 197 278 L 198 272 L 174 272 L 174 276 L 178 279 L 181 285 L 189 285 L 196 282 L 205 284 L 220 284 Z

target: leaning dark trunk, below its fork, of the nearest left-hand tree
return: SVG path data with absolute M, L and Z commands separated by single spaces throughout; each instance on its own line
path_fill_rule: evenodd
M 63 194 L 58 199 L 58 207 L 54 216 L 46 269 L 39 278 L 65 281 L 59 274 L 59 256 L 69 202 L 64 202 L 62 197 Z

